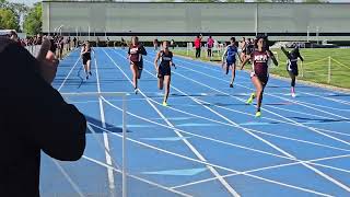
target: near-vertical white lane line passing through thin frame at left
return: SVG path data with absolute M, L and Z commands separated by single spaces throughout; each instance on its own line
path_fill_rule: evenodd
M 96 72 L 96 80 L 97 80 L 97 92 L 100 94 L 101 84 L 100 84 L 100 77 L 98 77 L 98 66 L 97 66 L 96 58 L 94 59 L 95 59 L 95 72 Z M 98 96 L 98 105 L 100 105 L 100 116 L 101 116 L 102 127 L 106 128 L 105 112 L 104 112 L 101 96 Z M 109 149 L 108 135 L 106 132 L 103 132 L 103 141 L 105 143 L 105 149 L 106 149 L 105 150 L 106 162 L 108 165 L 112 165 L 112 155 L 109 154 L 110 149 Z M 115 178 L 114 178 L 113 171 L 110 169 L 107 170 L 107 176 L 108 176 L 108 187 L 109 187 L 110 196 L 115 196 Z

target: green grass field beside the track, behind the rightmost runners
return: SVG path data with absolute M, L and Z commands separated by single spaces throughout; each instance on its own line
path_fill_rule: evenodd
M 279 67 L 270 69 L 270 72 L 289 78 L 288 72 L 285 71 L 287 57 L 280 49 L 273 51 L 277 53 Z M 174 54 L 191 58 L 195 57 L 194 50 L 187 55 L 187 51 L 184 49 L 175 49 Z M 304 62 L 303 66 L 301 66 L 301 61 L 299 61 L 300 74 L 298 79 L 350 89 L 350 48 L 305 48 L 301 49 L 301 55 L 304 58 Z M 205 56 L 206 54 L 202 53 L 201 60 L 209 61 L 209 58 Z M 329 57 L 330 82 L 328 83 Z M 219 57 L 213 57 L 212 60 L 219 62 L 221 60 L 221 55 Z M 250 69 L 250 67 L 246 66 L 246 69 Z

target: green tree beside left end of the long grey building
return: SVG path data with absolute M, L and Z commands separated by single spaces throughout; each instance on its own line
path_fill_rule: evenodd
M 24 32 L 28 35 L 42 33 L 43 13 L 42 3 L 35 3 L 24 19 Z

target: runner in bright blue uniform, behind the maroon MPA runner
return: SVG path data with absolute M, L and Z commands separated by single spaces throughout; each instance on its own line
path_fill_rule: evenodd
M 234 78 L 236 76 L 236 56 L 238 54 L 238 48 L 235 45 L 236 44 L 236 39 L 235 37 L 231 37 L 230 39 L 230 45 L 226 47 L 225 51 L 222 55 L 222 66 L 226 66 L 226 74 L 229 73 L 229 69 L 230 67 L 232 67 L 232 78 L 231 78 L 231 82 L 230 82 L 230 88 L 233 88 L 233 82 L 234 82 Z M 241 62 L 242 59 L 238 56 Z

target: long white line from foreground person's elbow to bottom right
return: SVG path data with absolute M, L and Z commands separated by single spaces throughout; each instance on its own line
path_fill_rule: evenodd
M 113 136 L 117 136 L 117 137 L 119 137 L 119 138 L 122 138 L 122 135 L 120 135 L 120 134 L 112 132 L 110 130 L 104 129 L 104 128 L 102 128 L 102 127 L 100 127 L 100 126 L 97 126 L 97 125 L 94 125 L 94 124 L 92 124 L 92 123 L 89 123 L 89 124 L 90 124 L 91 126 L 93 126 L 93 127 L 96 127 L 96 128 L 98 128 L 98 129 L 105 130 L 105 131 L 109 132 L 109 134 L 113 135 Z M 127 140 L 129 140 L 129 141 L 131 141 L 131 142 L 135 142 L 135 143 L 138 143 L 138 144 L 140 144 L 140 146 L 147 147 L 147 148 L 149 148 L 149 149 L 153 149 L 153 150 L 156 150 L 156 151 L 159 151 L 159 152 L 163 152 L 163 153 L 166 153 L 166 154 L 171 154 L 171 155 L 174 155 L 174 157 L 177 157 L 177 158 L 182 158 L 182 159 L 185 159 L 185 160 L 188 160 L 188 161 L 201 163 L 201 164 L 205 164 L 205 165 L 210 165 L 210 166 L 213 166 L 213 167 L 217 167 L 217 169 L 221 169 L 221 170 L 224 170 L 224 171 L 234 173 L 234 174 L 241 173 L 240 171 L 234 171 L 234 170 L 232 170 L 232 169 L 228 169 L 228 167 L 224 167 L 224 166 L 221 166 L 221 165 L 217 165 L 217 164 L 212 164 L 212 163 L 209 163 L 209 162 L 205 162 L 205 161 L 200 161 L 200 160 L 197 160 L 197 159 L 192 159 L 192 158 L 189 158 L 189 157 L 185 157 L 185 155 L 182 155 L 182 154 L 178 154 L 178 153 L 175 153 L 175 152 L 172 152 L 172 151 L 167 151 L 167 150 L 165 150 L 165 149 L 161 149 L 161 148 L 158 148 L 158 147 L 154 147 L 154 146 L 151 146 L 151 144 L 148 144 L 148 143 L 144 143 L 144 142 L 141 142 L 141 141 L 138 141 L 138 140 L 135 140 L 135 139 L 131 139 L 131 138 L 127 138 Z M 245 175 L 245 176 L 253 177 L 253 178 L 261 179 L 261 181 L 265 181 L 265 182 L 268 182 L 268 183 L 281 185 L 281 186 L 284 186 L 284 187 L 289 187 L 289 188 L 294 188 L 294 189 L 298 189 L 298 190 L 306 192 L 306 193 L 312 193 L 312 194 L 316 194 L 316 195 L 320 195 L 320 196 L 327 196 L 327 197 L 330 196 L 330 195 L 328 195 L 328 194 L 324 194 L 324 193 L 315 192 L 315 190 L 312 190 L 312 189 L 306 189 L 306 188 L 298 187 L 298 186 L 294 186 L 294 185 L 290 185 L 290 184 L 277 182 L 277 181 L 269 179 L 269 178 L 264 178 L 264 177 L 261 177 L 261 176 L 253 175 L 253 174 L 249 174 L 249 173 L 246 173 L 246 174 L 244 174 L 244 175 Z M 217 177 L 217 178 L 218 178 L 218 177 Z

